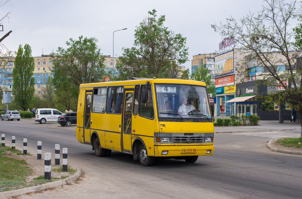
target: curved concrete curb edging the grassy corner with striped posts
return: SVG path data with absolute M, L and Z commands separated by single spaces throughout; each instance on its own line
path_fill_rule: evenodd
M 72 166 L 72 165 L 70 165 L 70 166 Z M 11 190 L 11 191 L 3 191 L 3 192 L 0 192 L 0 198 L 22 195 L 22 194 L 29 193 L 29 192 L 41 191 L 43 189 L 57 187 L 59 185 L 72 183 L 77 178 L 79 178 L 80 175 L 82 174 L 81 168 L 76 167 L 76 166 L 72 166 L 72 167 L 76 168 L 77 171 L 74 175 L 69 176 L 68 178 L 65 178 L 63 180 L 54 181 L 54 182 L 49 182 L 49 183 L 46 183 L 46 184 L 39 184 L 39 185 L 34 186 L 34 187 L 27 187 L 27 188 L 16 189 L 16 190 Z

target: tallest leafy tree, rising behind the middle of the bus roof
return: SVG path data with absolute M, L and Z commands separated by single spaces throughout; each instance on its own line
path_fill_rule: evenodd
M 134 34 L 134 47 L 124 48 L 117 60 L 116 80 L 128 77 L 177 78 L 180 64 L 188 61 L 186 39 L 163 25 L 165 15 L 156 18 L 156 10 L 148 12 Z

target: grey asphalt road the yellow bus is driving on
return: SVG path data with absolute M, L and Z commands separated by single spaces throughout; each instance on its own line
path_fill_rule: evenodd
M 143 167 L 132 155 L 120 152 L 96 157 L 91 146 L 76 140 L 75 126 L 22 119 L 0 121 L 0 126 L 6 145 L 11 144 L 10 136 L 16 136 L 16 148 L 22 150 L 23 138 L 27 138 L 28 151 L 36 154 L 37 141 L 42 141 L 42 157 L 52 152 L 52 161 L 55 144 L 61 150 L 68 148 L 68 163 L 94 176 L 85 191 L 98 193 L 95 196 L 106 196 L 102 195 L 104 189 L 108 198 L 275 199 L 302 195 L 302 157 L 272 152 L 265 147 L 273 139 L 269 137 L 215 134 L 212 156 L 199 156 L 195 163 L 156 160 L 153 166 Z

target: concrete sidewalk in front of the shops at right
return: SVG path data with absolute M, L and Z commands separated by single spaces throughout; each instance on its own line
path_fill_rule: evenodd
M 215 133 L 293 131 L 300 129 L 300 120 L 296 123 L 284 121 L 282 124 L 279 124 L 279 121 L 260 121 L 258 126 L 214 126 Z

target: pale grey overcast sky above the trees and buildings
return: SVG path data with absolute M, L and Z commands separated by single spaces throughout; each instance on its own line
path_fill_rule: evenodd
M 218 49 L 222 38 L 211 28 L 211 24 L 226 23 L 230 16 L 239 20 L 249 10 L 257 13 L 262 9 L 262 0 L 152 0 L 152 1 L 80 1 L 80 0 L 7 0 L 0 5 L 1 18 L 11 12 L 9 19 L 2 21 L 2 37 L 12 33 L 1 43 L 12 51 L 19 44 L 29 44 L 32 56 L 56 52 L 66 48 L 69 38 L 95 37 L 103 55 L 122 54 L 122 47 L 132 47 L 134 30 L 147 15 L 156 9 L 157 15 L 165 15 L 164 25 L 187 38 L 189 60 L 184 65 L 191 69 L 194 54 L 212 53 Z M 4 3 L 5 0 L 2 0 Z

